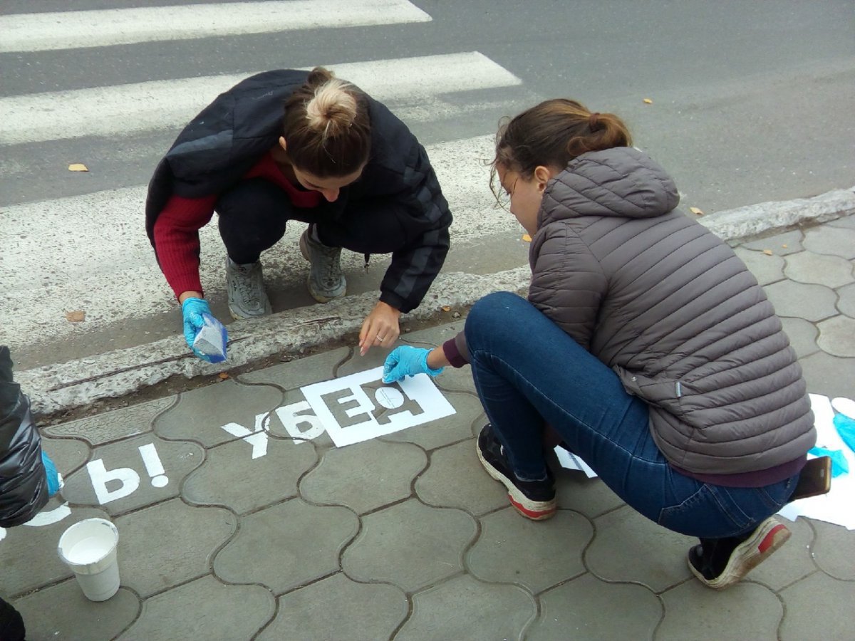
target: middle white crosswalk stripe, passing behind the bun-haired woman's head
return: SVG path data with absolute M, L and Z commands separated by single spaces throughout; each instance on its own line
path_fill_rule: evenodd
M 383 102 L 421 103 L 453 91 L 520 85 L 478 51 L 327 65 Z M 251 74 L 156 80 L 0 99 L 0 144 L 116 136 L 186 123 L 217 94 Z

